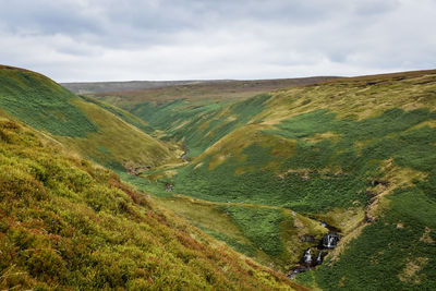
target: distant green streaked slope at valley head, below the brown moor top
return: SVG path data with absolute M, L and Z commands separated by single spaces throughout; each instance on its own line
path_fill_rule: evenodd
M 196 157 L 222 136 L 245 125 L 262 111 L 263 104 L 269 97 L 263 94 L 242 101 L 206 99 L 143 102 L 130 111 L 154 129 L 164 131 L 165 140 L 183 141 L 190 149 L 189 156 Z

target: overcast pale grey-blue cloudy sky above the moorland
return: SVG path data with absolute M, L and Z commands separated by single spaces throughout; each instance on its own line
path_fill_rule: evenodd
M 0 0 L 0 63 L 58 82 L 436 68 L 436 0 Z

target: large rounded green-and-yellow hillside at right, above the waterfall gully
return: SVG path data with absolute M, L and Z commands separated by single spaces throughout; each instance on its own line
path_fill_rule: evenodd
M 368 89 L 373 85 L 366 83 L 372 82 L 349 80 L 277 92 L 264 105 L 266 109 L 252 118 L 251 124 L 221 138 L 194 160 L 191 170 L 184 171 L 208 175 L 209 189 L 205 193 L 222 201 L 235 198 L 288 205 L 311 213 L 326 207 L 349 207 L 356 204 L 356 199 L 364 203 L 366 196 L 364 193 L 356 196 L 361 192 L 358 190 L 366 186 L 366 180 L 376 179 L 375 160 L 396 157 L 397 163 L 411 167 L 424 159 L 431 168 L 433 128 L 427 130 L 425 125 L 432 126 L 436 117 L 433 111 L 436 108 L 434 73 L 387 83 L 372 90 Z M 311 98 L 314 100 L 307 102 Z M 371 100 L 376 104 L 371 105 Z M 428 135 L 422 145 L 423 141 L 415 136 L 421 132 Z M 407 155 L 413 155 L 416 160 Z M 416 170 L 429 170 L 428 167 L 414 166 Z M 204 174 L 198 174 L 202 171 Z M 229 172 L 235 174 L 235 180 L 219 177 Z M 267 178 L 268 174 L 271 177 Z M 210 179 L 229 185 L 214 185 Z M 310 193 L 307 184 L 318 179 L 326 180 L 325 192 L 331 193 L 330 187 L 348 189 L 350 195 L 331 193 L 331 198 L 323 197 L 315 206 L 315 197 L 301 193 Z M 231 185 L 243 181 L 257 185 L 251 186 L 250 196 L 233 195 Z M 279 186 L 287 181 L 293 190 L 291 185 Z M 347 183 L 347 187 L 337 183 Z M 275 190 L 277 198 L 262 194 L 268 189 Z M 222 196 L 220 192 L 226 194 Z M 300 196 L 291 198 L 292 193 L 300 193 Z M 340 199 L 335 201 L 336 196 Z

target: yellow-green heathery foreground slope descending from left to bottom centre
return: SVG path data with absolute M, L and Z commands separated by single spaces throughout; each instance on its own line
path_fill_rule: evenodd
M 0 288 L 304 290 L 1 112 Z

